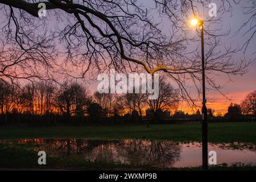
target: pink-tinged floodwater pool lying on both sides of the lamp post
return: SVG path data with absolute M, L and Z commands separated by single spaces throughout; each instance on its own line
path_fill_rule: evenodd
M 32 150 L 46 151 L 48 156 L 79 156 L 91 162 L 132 164 L 160 168 L 201 165 L 200 143 L 176 143 L 155 140 L 84 140 L 84 139 L 23 139 L 0 140 L 5 144 L 27 144 Z M 237 144 L 238 145 L 238 144 Z M 240 144 L 246 146 L 246 144 Z M 232 150 L 230 144 L 209 144 L 217 152 L 217 164 L 256 164 L 255 146 Z

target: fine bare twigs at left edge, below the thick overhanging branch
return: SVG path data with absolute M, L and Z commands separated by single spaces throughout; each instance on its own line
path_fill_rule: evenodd
M 0 78 L 12 84 L 17 80 L 52 80 L 57 56 L 54 35 L 42 30 L 44 24 L 22 10 L 12 6 L 0 9 L 1 17 L 6 18 L 0 25 Z

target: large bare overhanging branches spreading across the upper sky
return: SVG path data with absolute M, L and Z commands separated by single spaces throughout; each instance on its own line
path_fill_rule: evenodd
M 154 0 L 147 7 L 134 0 L 43 1 L 47 16 L 57 26 L 54 30 L 47 26 L 48 17 L 38 17 L 40 2 L 0 0 L 5 17 L 1 78 L 15 83 L 16 79 L 54 80 L 55 74 L 84 78 L 90 71 L 97 73 L 108 68 L 152 74 L 162 71 L 179 86 L 180 96 L 195 106 L 187 86 L 188 80 L 196 88 L 201 84 L 200 50 L 188 51 L 188 46 L 199 37 L 188 36 L 191 27 L 187 22 L 191 15 L 200 17 L 200 10 L 208 9 L 210 0 Z M 205 75 L 208 88 L 214 90 L 221 87 L 213 75 L 243 74 L 251 64 L 250 60 L 232 59 L 239 48 L 220 47 L 223 36 L 228 35 L 221 31 L 221 21 L 231 11 L 232 3 L 219 3 L 219 15 L 204 19 L 209 50 L 205 55 Z M 171 23 L 170 34 L 164 32 L 163 24 L 154 21 L 155 13 L 159 22 Z M 199 88 L 198 91 L 200 94 Z

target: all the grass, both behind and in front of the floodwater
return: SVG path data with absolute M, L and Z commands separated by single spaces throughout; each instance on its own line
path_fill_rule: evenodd
M 208 139 L 212 143 L 253 143 L 256 144 L 256 123 L 230 122 L 209 123 Z M 106 125 L 106 126 L 56 126 L 56 127 L 0 127 L 0 140 L 24 138 L 83 138 L 83 139 L 152 139 L 175 142 L 200 142 L 200 124 L 159 124 L 151 125 Z M 38 155 L 33 144 L 0 144 L 0 168 L 32 169 L 86 169 L 86 170 L 159 170 L 152 166 L 131 166 L 90 162 L 79 155 L 61 158 L 47 157 L 47 165 L 39 166 Z M 4 157 L 2 157 L 4 156 Z M 174 170 L 200 170 L 201 167 L 171 168 Z M 163 169 L 161 170 L 171 170 Z M 256 166 L 218 165 L 210 170 L 256 170 Z

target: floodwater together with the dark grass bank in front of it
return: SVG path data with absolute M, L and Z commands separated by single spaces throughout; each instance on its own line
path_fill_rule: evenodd
M 40 150 L 46 151 L 47 166 L 37 163 Z M 208 150 L 217 152 L 217 165 L 210 169 L 255 169 L 256 151 L 252 144 L 210 143 Z M 0 155 L 4 156 L 0 168 L 197 170 L 201 144 L 139 139 L 0 140 Z

